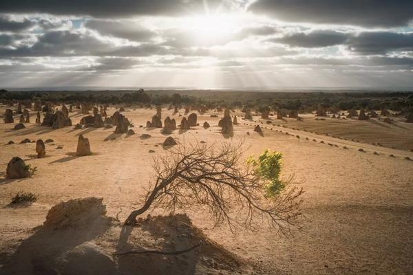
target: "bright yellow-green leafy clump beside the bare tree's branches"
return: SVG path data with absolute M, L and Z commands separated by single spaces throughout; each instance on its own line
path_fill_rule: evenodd
M 248 157 L 248 164 L 252 165 L 255 173 L 264 181 L 264 192 L 266 197 L 275 197 L 286 188 L 286 183 L 279 179 L 281 173 L 282 153 L 265 150 L 258 155 Z

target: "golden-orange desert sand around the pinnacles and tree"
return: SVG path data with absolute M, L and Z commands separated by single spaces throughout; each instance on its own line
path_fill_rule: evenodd
M 1 106 L 0 113 L 5 111 L 6 107 Z M 108 115 L 114 111 L 115 107 L 110 107 Z M 36 228 L 43 225 L 48 210 L 61 201 L 103 198 L 107 217 L 118 217 L 120 221 L 124 221 L 131 210 L 139 208 L 151 180 L 153 157 L 168 153 L 162 142 L 169 135 L 162 134 L 162 129 L 140 127 L 155 113 L 155 109 L 126 108 L 123 114 L 134 123 L 135 135 L 114 134 L 114 128 L 75 130 L 72 126 L 54 130 L 33 123 L 34 112 L 31 112 L 32 123 L 25 124 L 26 129 L 13 130 L 16 123 L 0 123 L 0 270 L 19 259 L 16 254 L 19 247 L 25 245 L 30 251 L 27 248 L 30 243 L 41 241 L 41 232 L 36 232 Z M 183 115 L 184 109 L 179 113 Z M 164 108 L 162 121 L 169 115 L 179 123 L 179 113 L 173 114 L 173 110 Z M 271 124 L 267 124 L 267 120 L 257 115 L 253 121 L 242 120 L 244 114 L 235 111 L 231 113 L 238 119 L 234 135 L 224 137 L 218 127 L 223 113 L 211 118 L 213 113 L 198 113 L 200 126 L 185 133 L 175 130 L 170 136 L 179 142 L 207 144 L 220 144 L 229 138 L 242 140 L 248 148 L 247 155 L 261 153 L 266 148 L 279 151 L 284 155 L 282 176 L 293 175 L 305 191 L 303 213 L 307 219 L 302 230 L 296 230 L 290 238 L 265 227 L 258 232 L 233 234 L 225 226 L 213 228 L 202 209 L 189 211 L 189 218 L 202 234 L 233 254 L 233 258 L 222 255 L 218 258 L 230 262 L 239 259 L 249 266 L 241 271 L 235 268 L 233 272 L 413 274 L 413 161 L 405 159 L 413 159 L 410 151 L 413 124 L 399 120 L 385 124 L 376 119 L 315 120 L 311 114 L 301 115 L 303 121 L 271 117 Z M 83 116 L 74 109 L 70 113 L 73 125 Z M 17 116 L 14 120 L 18 122 Z M 202 127 L 205 121 L 211 125 L 209 129 Z M 262 127 L 263 135 L 253 131 L 257 124 Z M 143 133 L 151 137 L 140 138 Z M 76 157 L 78 135 L 89 139 L 92 155 Z M 45 143 L 46 155 L 37 159 L 36 143 L 20 144 L 25 138 L 53 141 Z M 10 140 L 14 144 L 7 144 Z M 363 148 L 363 152 L 359 148 Z M 150 150 L 154 153 L 149 153 Z M 378 155 L 374 155 L 374 151 Z M 28 179 L 6 179 L 6 166 L 15 156 L 37 166 L 36 173 Z M 35 193 L 38 201 L 27 207 L 10 207 L 12 195 L 21 190 Z M 161 210 L 149 212 L 168 214 Z M 133 238 L 129 238 L 131 243 L 139 242 L 138 236 L 142 233 L 139 229 L 134 231 Z M 119 236 L 120 225 L 110 232 L 102 230 L 91 234 L 83 241 L 91 246 L 106 243 L 109 247 L 108 243 L 118 241 Z M 32 242 L 25 242 L 30 238 Z M 156 248 L 156 241 L 153 242 Z M 156 255 L 150 257 L 153 261 L 158 261 L 156 257 L 163 259 Z M 202 268 L 196 267 L 200 260 L 188 261 L 191 267 L 182 267 L 182 274 L 218 274 L 220 270 L 212 263 L 211 270 L 204 269 L 209 267 L 208 261 L 202 262 Z M 41 270 L 37 274 L 42 274 Z

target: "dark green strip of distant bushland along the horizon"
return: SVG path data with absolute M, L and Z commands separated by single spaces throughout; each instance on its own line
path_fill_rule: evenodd
M 208 108 L 248 107 L 257 111 L 298 109 L 327 110 L 390 109 L 413 111 L 413 92 L 259 92 L 259 91 L 6 91 L 0 100 L 34 100 L 50 102 L 94 102 L 110 104 L 203 104 Z

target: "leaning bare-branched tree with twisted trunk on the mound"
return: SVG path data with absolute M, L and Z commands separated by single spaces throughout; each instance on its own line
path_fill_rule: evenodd
M 266 197 L 266 183 L 241 159 L 241 145 L 178 144 L 170 155 L 156 159 L 155 181 L 145 203 L 129 214 L 125 225 L 134 225 L 136 217 L 150 207 L 173 212 L 205 206 L 215 225 L 227 223 L 231 230 L 238 225 L 254 230 L 263 219 L 283 234 L 298 228 L 302 188 L 288 186 L 284 192 Z

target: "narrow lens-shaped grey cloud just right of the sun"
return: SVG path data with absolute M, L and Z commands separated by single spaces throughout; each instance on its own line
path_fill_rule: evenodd
M 344 44 L 347 39 L 348 34 L 332 30 L 320 30 L 290 34 L 282 38 L 271 39 L 271 41 L 288 44 L 291 47 L 328 47 Z

